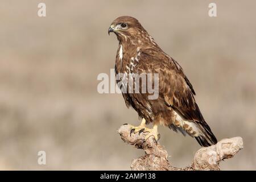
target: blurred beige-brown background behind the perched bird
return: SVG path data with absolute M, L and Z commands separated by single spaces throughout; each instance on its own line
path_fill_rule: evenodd
M 46 18 L 37 15 L 38 3 Z M 217 17 L 208 16 L 210 2 Z M 222 169 L 256 169 L 255 1 L 0 2 L 0 169 L 130 169 L 143 154 L 116 130 L 138 125 L 121 94 L 98 94 L 97 75 L 114 68 L 118 42 L 108 27 L 139 19 L 184 68 L 218 139 L 244 149 Z M 191 163 L 195 139 L 160 127 L 174 166 Z M 47 154 L 40 166 L 38 151 Z

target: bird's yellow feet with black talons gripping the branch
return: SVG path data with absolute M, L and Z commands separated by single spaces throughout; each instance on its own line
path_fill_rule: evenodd
M 158 125 L 154 124 L 152 129 L 149 129 L 146 127 L 146 120 L 143 118 L 141 125 L 139 126 L 132 126 L 131 127 L 131 133 L 138 133 L 141 134 L 143 133 L 148 133 L 144 139 L 144 141 L 146 141 L 148 138 L 150 138 L 151 136 L 155 137 L 156 142 L 160 139 L 160 135 L 158 133 Z

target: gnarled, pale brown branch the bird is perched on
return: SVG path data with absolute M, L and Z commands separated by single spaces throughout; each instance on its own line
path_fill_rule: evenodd
M 168 153 L 164 147 L 156 143 L 154 137 L 150 137 L 144 142 L 146 133 L 131 133 L 131 125 L 122 125 L 118 129 L 121 139 L 136 148 L 145 151 L 145 155 L 138 159 L 133 159 L 132 170 L 166 170 L 166 171 L 193 171 L 193 170 L 220 170 L 219 163 L 224 159 L 233 158 L 238 151 L 243 148 L 241 137 L 222 139 L 217 144 L 210 147 L 203 147 L 198 150 L 193 158 L 191 166 L 176 168 L 170 165 Z

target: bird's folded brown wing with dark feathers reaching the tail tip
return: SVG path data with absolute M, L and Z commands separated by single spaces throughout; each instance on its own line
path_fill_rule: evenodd
M 196 128 L 200 129 L 200 134 L 195 137 L 197 142 L 201 146 L 217 143 L 217 139 L 196 104 L 195 90 L 181 66 L 158 48 L 144 49 L 141 56 L 143 64 L 151 69 L 149 72 L 159 73 L 159 96 L 164 97 L 166 105 L 172 107 L 184 121 L 193 122 Z M 184 134 L 179 127 L 170 126 Z

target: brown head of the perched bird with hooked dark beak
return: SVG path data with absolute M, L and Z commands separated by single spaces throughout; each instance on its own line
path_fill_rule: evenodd
M 141 23 L 131 16 L 120 16 L 115 19 L 109 27 L 108 33 L 114 32 L 119 41 L 135 38 L 135 36 L 146 34 Z

